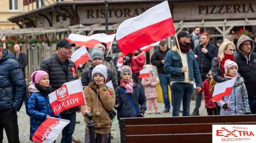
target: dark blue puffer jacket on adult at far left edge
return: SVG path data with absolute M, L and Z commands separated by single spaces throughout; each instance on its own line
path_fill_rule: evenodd
M 0 57 L 0 111 L 13 108 L 20 111 L 26 92 L 26 82 L 20 64 L 8 49 Z

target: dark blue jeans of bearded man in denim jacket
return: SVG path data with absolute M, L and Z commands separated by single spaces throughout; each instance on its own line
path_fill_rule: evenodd
M 189 116 L 190 101 L 194 91 L 193 84 L 175 82 L 172 84 L 171 89 L 173 98 L 172 116 L 180 116 L 181 102 L 183 106 L 182 116 Z

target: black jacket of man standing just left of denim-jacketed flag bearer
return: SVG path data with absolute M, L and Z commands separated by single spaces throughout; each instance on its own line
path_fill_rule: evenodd
M 158 74 L 169 74 L 167 72 L 164 72 L 164 64 L 162 64 L 162 60 L 164 59 L 164 57 L 166 56 L 166 53 L 169 51 L 170 49 L 167 47 L 166 52 L 162 52 L 161 49 L 158 49 L 157 51 L 155 51 L 155 53 L 153 53 L 151 59 L 150 59 L 150 63 L 153 66 L 156 66 L 157 69 L 157 73 Z

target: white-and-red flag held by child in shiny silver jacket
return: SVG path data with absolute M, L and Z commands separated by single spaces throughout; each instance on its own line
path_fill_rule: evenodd
M 235 81 L 236 78 L 232 78 L 228 81 L 215 84 L 211 100 L 220 101 L 222 100 L 223 96 L 230 95 L 234 87 Z

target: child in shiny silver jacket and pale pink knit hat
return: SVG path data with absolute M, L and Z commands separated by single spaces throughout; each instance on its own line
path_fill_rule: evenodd
M 238 66 L 234 61 L 227 59 L 224 63 L 224 78 L 239 80 Z M 248 94 L 244 83 L 240 86 L 233 86 L 229 96 L 223 96 L 222 100 L 216 101 L 221 107 L 220 115 L 243 115 L 250 114 L 250 106 L 248 103 Z

